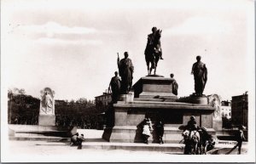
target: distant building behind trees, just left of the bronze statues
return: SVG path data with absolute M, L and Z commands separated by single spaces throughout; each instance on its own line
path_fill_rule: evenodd
M 107 110 L 108 103 L 111 102 L 112 93 L 102 93 L 100 96 L 95 97 L 96 109 L 103 108 Z

